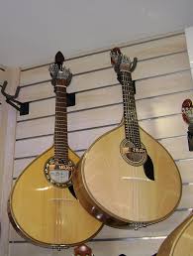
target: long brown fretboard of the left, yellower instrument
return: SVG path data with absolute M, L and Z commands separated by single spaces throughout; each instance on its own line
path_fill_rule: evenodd
M 54 158 L 68 163 L 67 99 L 63 85 L 56 85 L 55 91 Z

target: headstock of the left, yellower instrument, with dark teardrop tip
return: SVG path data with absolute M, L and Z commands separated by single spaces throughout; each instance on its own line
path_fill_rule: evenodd
M 72 73 L 70 72 L 69 68 L 63 66 L 63 62 L 63 55 L 61 54 L 61 52 L 57 52 L 57 54 L 55 55 L 54 64 L 49 65 L 48 70 L 52 78 L 51 84 L 54 86 L 54 88 L 57 85 L 63 85 L 64 87 L 67 87 L 71 82 Z

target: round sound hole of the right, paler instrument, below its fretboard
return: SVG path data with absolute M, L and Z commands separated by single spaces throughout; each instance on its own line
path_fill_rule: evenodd
M 123 159 L 130 165 L 138 167 L 145 164 L 147 154 L 143 144 L 141 148 L 137 148 L 134 143 L 125 139 L 120 145 L 120 150 Z

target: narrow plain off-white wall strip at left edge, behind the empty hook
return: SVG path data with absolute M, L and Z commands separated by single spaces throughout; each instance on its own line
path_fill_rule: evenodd
M 1 76 L 8 81 L 6 92 L 14 94 L 19 84 L 20 69 L 6 68 Z M 0 221 L 1 239 L 0 255 L 8 255 L 9 249 L 9 220 L 7 215 L 7 200 L 12 186 L 13 159 L 16 138 L 16 109 L 8 105 L 1 95 L 1 126 L 0 126 Z

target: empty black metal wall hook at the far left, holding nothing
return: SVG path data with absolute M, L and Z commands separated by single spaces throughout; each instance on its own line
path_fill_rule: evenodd
M 3 82 L 2 88 L 1 88 L 1 93 L 6 97 L 6 102 L 16 108 L 19 112 L 20 115 L 28 115 L 29 114 L 29 102 L 20 102 L 16 100 L 16 98 L 19 95 L 21 87 L 18 86 L 15 92 L 15 95 L 10 95 L 5 92 L 5 88 L 7 87 L 8 82 L 5 80 Z M 14 104 L 14 102 L 16 104 Z

